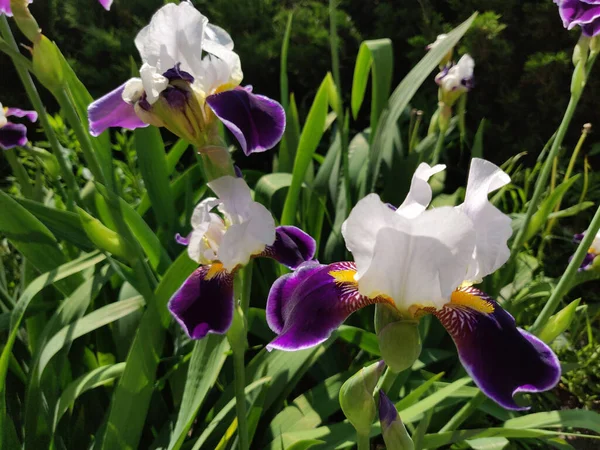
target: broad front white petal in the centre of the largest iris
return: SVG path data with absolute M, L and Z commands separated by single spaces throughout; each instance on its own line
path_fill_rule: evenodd
M 359 291 L 386 295 L 401 311 L 441 307 L 464 280 L 473 248 L 473 225 L 457 209 L 430 210 L 414 219 L 395 215 L 376 234 L 372 260 L 357 278 Z

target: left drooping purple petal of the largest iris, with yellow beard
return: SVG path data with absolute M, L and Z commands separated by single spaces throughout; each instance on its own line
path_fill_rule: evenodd
M 267 349 L 302 350 L 327 340 L 357 309 L 384 302 L 358 293 L 356 265 L 306 262 L 277 279 L 267 299 L 267 323 L 277 336 Z

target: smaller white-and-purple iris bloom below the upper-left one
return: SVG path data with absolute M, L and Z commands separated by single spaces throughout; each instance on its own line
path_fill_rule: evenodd
M 186 334 L 202 339 L 226 333 L 233 319 L 233 278 L 251 258 L 270 257 L 294 269 L 313 258 L 315 241 L 296 227 L 275 227 L 271 213 L 252 200 L 241 178 L 208 183 L 218 198 L 207 198 L 192 214 L 192 232 L 177 241 L 201 264 L 169 301 Z

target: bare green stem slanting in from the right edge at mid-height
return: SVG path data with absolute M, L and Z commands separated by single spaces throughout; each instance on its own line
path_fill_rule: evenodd
M 548 319 L 550 319 L 550 316 L 552 316 L 558 308 L 560 301 L 571 288 L 573 278 L 577 275 L 577 271 L 579 270 L 588 249 L 592 246 L 592 242 L 594 241 L 598 230 L 600 230 L 600 207 L 596 210 L 592 223 L 590 223 L 588 230 L 585 232 L 585 236 L 581 240 L 579 247 L 577 247 L 577 251 L 575 251 L 573 259 L 571 259 L 571 262 L 567 266 L 567 270 L 565 270 L 565 273 L 560 278 L 560 281 L 556 285 L 548 302 L 544 305 L 544 309 L 542 309 L 542 312 L 531 327 L 531 333 L 539 333 L 544 325 L 546 325 L 546 322 L 548 322 Z

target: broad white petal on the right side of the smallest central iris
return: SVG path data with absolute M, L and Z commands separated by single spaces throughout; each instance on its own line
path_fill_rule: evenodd
M 221 241 L 217 257 L 226 270 L 238 264 L 248 264 L 252 255 L 262 253 L 275 242 L 275 221 L 263 205 L 252 202 L 246 211 L 246 220 L 231 225 Z

